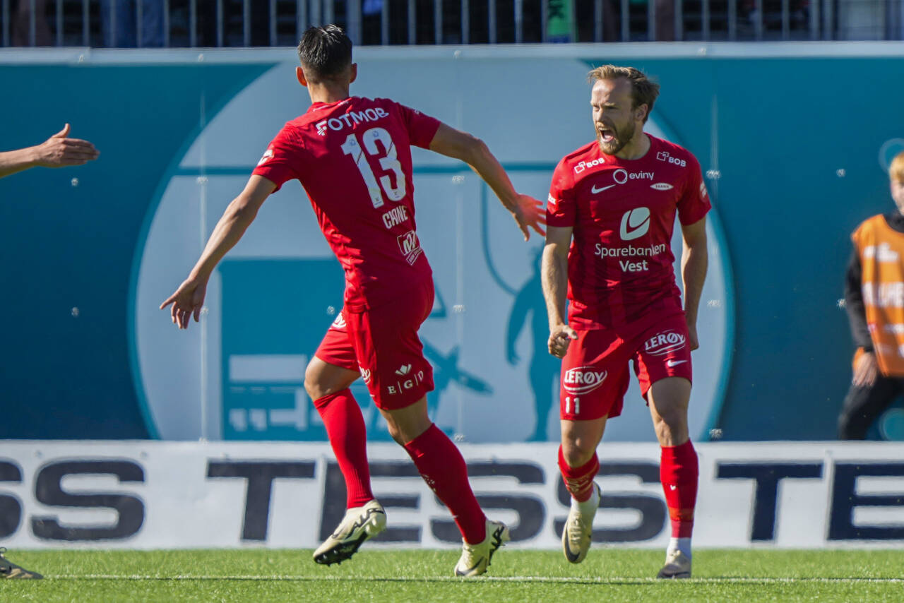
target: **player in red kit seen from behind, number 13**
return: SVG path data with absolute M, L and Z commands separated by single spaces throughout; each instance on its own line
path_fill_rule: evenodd
M 351 557 L 386 526 L 371 491 L 366 433 L 349 386 L 363 377 L 390 435 L 452 513 L 463 536 L 455 574 L 486 571 L 508 528 L 486 519 L 467 481 L 465 460 L 428 418 L 433 372 L 418 338 L 433 307 L 433 279 L 414 221 L 411 149 L 465 161 L 512 212 L 527 240 L 543 233 L 542 203 L 515 193 L 502 165 L 479 139 L 389 99 L 349 95 L 357 75 L 352 42 L 335 25 L 308 29 L 298 44 L 297 79 L 311 97 L 306 113 L 270 143 L 245 190 L 229 205 L 194 269 L 161 308 L 173 322 L 198 320 L 207 281 L 240 239 L 261 203 L 288 180 L 304 186 L 321 230 L 345 271 L 342 314 L 305 373 L 324 419 L 348 497 L 343 521 L 315 551 L 318 563 Z

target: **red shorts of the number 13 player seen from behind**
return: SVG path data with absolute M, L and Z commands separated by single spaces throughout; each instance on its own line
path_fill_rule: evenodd
M 378 408 L 403 409 L 433 391 L 433 367 L 418 338 L 432 309 L 432 281 L 400 291 L 391 304 L 362 312 L 343 308 L 315 355 L 360 371 Z

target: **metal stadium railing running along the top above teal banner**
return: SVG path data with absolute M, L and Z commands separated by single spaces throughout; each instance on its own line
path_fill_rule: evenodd
M 904 25 L 904 0 L 0 0 L 2 43 L 105 46 L 126 11 L 127 45 L 146 46 L 151 6 L 165 47 L 295 45 L 326 23 L 359 45 L 900 40 Z

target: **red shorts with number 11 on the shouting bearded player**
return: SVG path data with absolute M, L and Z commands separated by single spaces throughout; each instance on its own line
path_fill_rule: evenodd
M 683 315 L 640 321 L 627 332 L 578 331 L 562 359 L 560 417 L 617 417 L 627 391 L 628 362 L 646 398 L 650 385 L 666 377 L 692 381 L 691 346 Z

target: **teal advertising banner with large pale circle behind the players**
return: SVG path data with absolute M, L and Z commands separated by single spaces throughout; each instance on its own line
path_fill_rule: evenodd
M 904 83 L 892 77 L 904 51 L 556 44 L 355 58 L 353 94 L 476 134 L 540 199 L 560 157 L 593 137 L 589 68 L 651 74 L 662 93 L 647 130 L 700 159 L 714 205 L 692 437 L 834 438 L 851 372 L 839 304 L 849 235 L 891 207 L 883 170 L 904 150 Z M 0 181 L 0 400 L 16 409 L 0 438 L 325 438 L 304 369 L 344 278 L 300 186 L 273 195 L 221 263 L 200 324 L 179 332 L 157 309 L 270 138 L 306 110 L 294 66 L 293 49 L 0 52 L 2 149 L 68 121 L 101 151 L 90 165 Z M 436 370 L 431 416 L 459 440 L 557 439 L 541 240 L 524 243 L 466 165 L 413 158 L 437 288 L 421 332 Z M 363 385 L 353 391 L 369 437 L 388 439 Z M 890 410 L 873 437 L 904 438 L 901 414 Z M 606 440 L 653 438 L 632 385 Z

